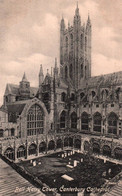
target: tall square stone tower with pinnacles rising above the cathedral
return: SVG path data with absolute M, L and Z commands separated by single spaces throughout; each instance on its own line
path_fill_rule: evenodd
M 73 26 L 62 18 L 60 25 L 61 76 L 78 89 L 81 80 L 91 77 L 91 21 L 81 24 L 79 8 L 75 10 Z

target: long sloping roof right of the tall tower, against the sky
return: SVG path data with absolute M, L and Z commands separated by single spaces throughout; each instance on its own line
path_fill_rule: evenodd
M 122 84 L 122 71 L 112 74 L 100 75 L 91 77 L 88 81 L 88 86 L 91 87 L 107 87 L 112 85 Z

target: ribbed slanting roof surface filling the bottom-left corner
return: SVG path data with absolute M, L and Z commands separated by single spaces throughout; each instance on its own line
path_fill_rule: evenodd
M 39 189 L 0 159 L 0 196 L 44 196 Z

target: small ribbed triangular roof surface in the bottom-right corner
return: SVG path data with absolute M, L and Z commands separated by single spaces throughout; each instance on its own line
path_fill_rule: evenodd
M 115 185 L 109 193 L 104 194 L 104 196 L 121 196 L 122 195 L 122 180 Z

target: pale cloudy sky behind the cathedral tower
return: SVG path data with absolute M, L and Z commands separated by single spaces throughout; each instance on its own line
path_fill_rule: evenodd
M 38 86 L 44 73 L 59 64 L 60 21 L 72 25 L 76 0 L 0 0 L 0 105 L 7 83 L 23 73 Z M 81 24 L 92 23 L 92 76 L 122 71 L 122 0 L 79 0 Z

